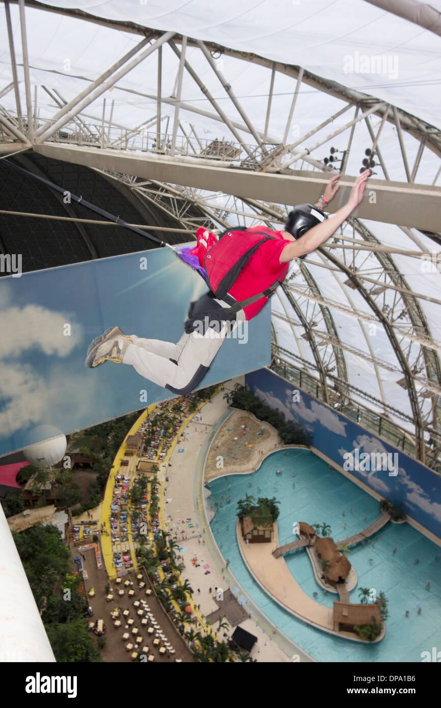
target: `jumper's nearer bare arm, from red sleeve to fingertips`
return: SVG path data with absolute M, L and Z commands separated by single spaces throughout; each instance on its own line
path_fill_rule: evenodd
M 280 254 L 280 263 L 287 263 L 287 261 L 292 261 L 293 258 L 299 258 L 299 256 L 304 256 L 306 253 L 311 253 L 318 249 L 321 244 L 324 244 L 336 232 L 338 227 L 343 224 L 355 207 L 360 204 L 365 192 L 367 178 L 371 174 L 370 169 L 367 169 L 357 177 L 348 202 L 343 207 L 340 207 L 331 219 L 325 219 L 320 224 L 316 224 L 297 241 L 291 241 L 285 246 L 285 249 Z

